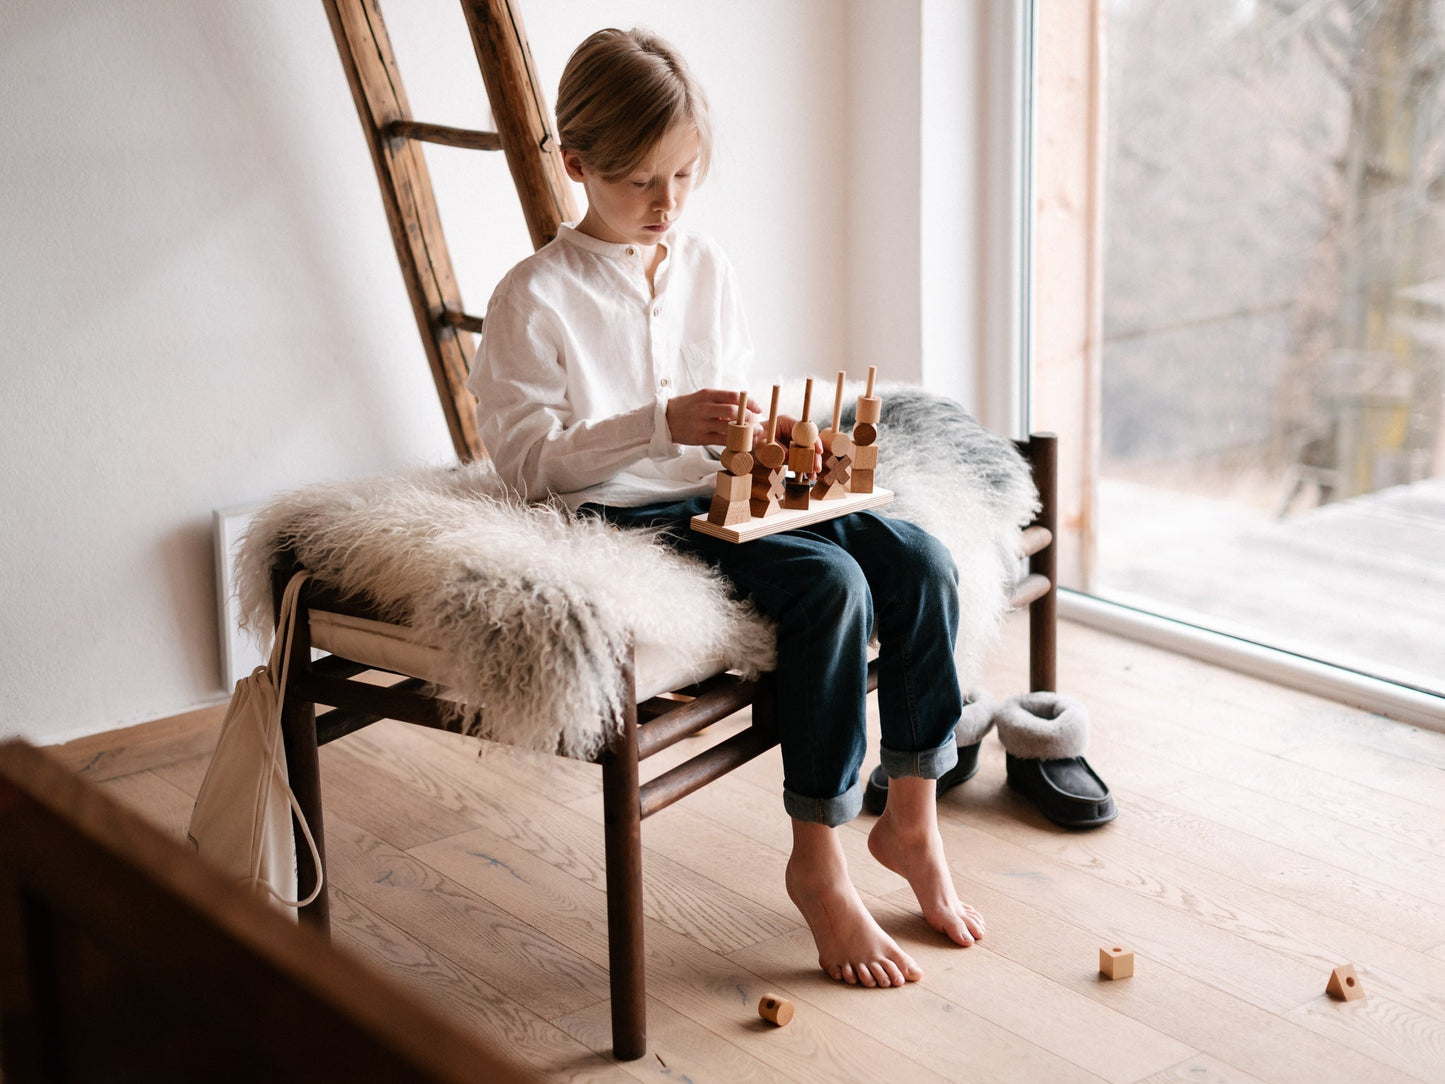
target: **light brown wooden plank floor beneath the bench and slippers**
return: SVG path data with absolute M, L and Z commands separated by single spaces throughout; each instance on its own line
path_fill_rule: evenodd
M 1022 635 L 1010 619 L 996 695 L 1023 688 Z M 845 830 L 922 983 L 816 970 L 763 757 L 643 824 L 650 1051 L 613 1062 L 600 773 L 402 724 L 321 754 L 335 941 L 558 1080 L 1445 1080 L 1445 734 L 1078 626 L 1061 643 L 1121 812 L 1052 828 L 990 737 L 942 802 L 983 942 L 942 944 L 868 859 L 871 818 Z M 59 752 L 181 835 L 217 723 Z M 1133 978 L 1100 980 L 1108 944 Z M 1344 963 L 1364 1000 L 1325 996 Z M 759 1020 L 767 990 L 795 1002 L 788 1028 Z

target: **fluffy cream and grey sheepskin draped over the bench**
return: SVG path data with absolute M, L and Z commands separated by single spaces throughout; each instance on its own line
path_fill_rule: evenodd
M 977 684 L 1036 507 L 1012 442 L 957 403 L 880 387 L 877 483 L 886 515 L 935 533 L 959 568 L 959 678 Z M 851 422 L 850 422 L 851 423 Z M 237 561 L 243 623 L 269 633 L 270 567 L 289 554 L 318 581 L 448 649 L 468 730 L 591 757 L 614 731 L 629 639 L 751 676 L 772 669 L 772 626 L 701 561 L 509 494 L 488 463 L 423 467 L 282 496 Z

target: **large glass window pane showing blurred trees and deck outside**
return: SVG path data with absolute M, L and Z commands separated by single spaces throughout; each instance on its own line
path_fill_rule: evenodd
M 1097 17 L 1077 585 L 1445 694 L 1445 0 Z

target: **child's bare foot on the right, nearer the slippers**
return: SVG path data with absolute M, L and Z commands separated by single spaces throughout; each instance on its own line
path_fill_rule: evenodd
M 984 935 L 984 919 L 954 889 L 935 801 L 932 779 L 889 780 L 889 804 L 868 833 L 868 851 L 907 880 L 933 929 L 971 945 Z

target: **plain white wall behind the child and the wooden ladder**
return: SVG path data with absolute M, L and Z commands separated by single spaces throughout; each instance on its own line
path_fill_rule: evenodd
M 760 382 L 922 371 L 919 3 L 523 3 L 549 95 L 601 25 L 708 87 L 689 218 L 740 269 Z M 386 12 L 416 116 L 483 124 L 455 6 Z M 224 695 L 212 509 L 451 447 L 319 3 L 7 0 L 0 145 L 0 737 L 61 741 Z M 506 166 L 429 162 L 481 311 L 527 251 Z

